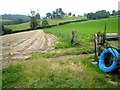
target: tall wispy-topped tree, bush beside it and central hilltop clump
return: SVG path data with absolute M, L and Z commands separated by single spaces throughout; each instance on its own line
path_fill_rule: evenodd
M 31 10 L 30 17 L 30 27 L 32 29 L 35 29 L 37 27 L 46 27 L 49 25 L 47 18 L 50 19 L 62 19 L 63 17 L 67 16 L 67 13 L 65 13 L 62 8 L 58 8 L 54 10 L 52 13 L 48 12 L 46 13 L 46 16 L 44 18 L 40 18 L 39 10 L 37 10 L 37 13 L 33 10 Z

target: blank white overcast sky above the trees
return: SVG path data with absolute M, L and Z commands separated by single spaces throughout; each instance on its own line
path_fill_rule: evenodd
M 62 8 L 64 12 L 83 15 L 98 10 L 118 10 L 120 0 L 0 0 L 0 14 L 28 15 L 30 9 L 37 10 L 41 16 Z

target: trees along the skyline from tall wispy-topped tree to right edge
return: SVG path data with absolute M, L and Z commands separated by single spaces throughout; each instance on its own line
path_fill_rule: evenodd
M 39 14 L 37 13 L 35 15 L 35 12 L 34 12 L 34 15 L 32 14 L 32 16 L 29 16 L 30 17 L 30 23 L 31 23 L 30 26 L 31 26 L 32 29 L 40 26 L 40 24 L 38 22 L 39 19 L 37 18 L 37 15 L 39 15 Z M 102 18 L 109 18 L 110 16 L 115 16 L 115 15 L 120 15 L 120 10 L 118 10 L 118 11 L 113 10 L 112 14 L 110 14 L 110 12 L 106 11 L 106 10 L 96 11 L 95 13 L 91 12 L 91 13 L 84 14 L 84 16 L 86 16 L 88 19 L 92 19 L 92 20 L 102 19 Z M 69 12 L 67 14 L 62 10 L 62 8 L 58 8 L 58 9 L 54 10 L 52 13 L 50 13 L 50 12 L 46 13 L 46 17 L 43 18 L 41 26 L 48 26 L 49 25 L 49 23 L 47 21 L 47 18 L 50 18 L 50 19 L 56 19 L 56 18 L 62 19 L 63 17 L 66 17 L 66 16 L 76 16 L 76 15 L 72 14 L 71 12 Z M 78 16 L 80 16 L 80 15 L 78 15 Z

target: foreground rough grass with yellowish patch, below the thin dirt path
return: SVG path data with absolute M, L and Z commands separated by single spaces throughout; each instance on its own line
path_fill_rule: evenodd
M 115 88 L 105 73 L 85 57 L 36 58 L 3 68 L 3 88 Z

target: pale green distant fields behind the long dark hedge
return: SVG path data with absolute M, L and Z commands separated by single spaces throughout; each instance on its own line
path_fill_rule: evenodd
M 81 17 L 64 17 L 62 19 L 47 19 L 49 25 L 55 25 L 58 24 L 60 22 L 66 22 L 66 21 L 75 21 L 75 20 L 82 20 L 82 19 L 86 19 L 86 18 L 81 18 Z M 41 20 L 42 21 L 42 20 Z M 40 23 L 41 23 L 40 21 Z M 16 25 L 5 25 L 6 28 L 11 29 L 13 31 L 16 30 L 24 30 L 24 29 L 29 29 L 30 25 L 29 23 L 22 23 L 22 24 L 16 24 Z

